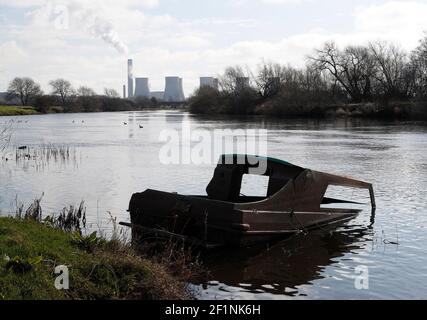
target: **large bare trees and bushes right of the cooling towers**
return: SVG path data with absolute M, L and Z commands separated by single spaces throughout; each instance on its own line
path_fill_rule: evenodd
M 304 68 L 263 63 L 253 72 L 229 67 L 219 88 L 202 87 L 190 98 L 194 113 L 324 115 L 333 107 L 421 105 L 427 111 L 427 35 L 412 52 L 389 42 L 340 49 L 327 42 Z M 426 112 L 427 113 L 427 112 Z

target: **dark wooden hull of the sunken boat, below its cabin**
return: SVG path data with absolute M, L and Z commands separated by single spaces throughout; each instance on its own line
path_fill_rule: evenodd
M 155 190 L 133 195 L 133 238 L 184 237 L 207 247 L 251 246 L 344 223 L 358 210 L 319 212 L 238 210 L 227 202 Z

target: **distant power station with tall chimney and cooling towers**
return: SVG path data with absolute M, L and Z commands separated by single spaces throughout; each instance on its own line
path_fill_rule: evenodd
M 155 98 L 165 102 L 185 102 L 183 79 L 178 76 L 165 77 L 164 91 L 151 91 L 149 78 L 134 77 L 133 60 L 128 60 L 127 98 Z M 248 79 L 249 80 L 249 79 Z M 200 87 L 218 89 L 218 79 L 214 77 L 200 77 Z M 123 86 L 123 98 L 126 98 L 126 85 Z

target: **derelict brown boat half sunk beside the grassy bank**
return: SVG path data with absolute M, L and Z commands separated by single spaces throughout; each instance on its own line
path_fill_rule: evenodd
M 269 178 L 265 197 L 241 194 L 243 176 L 263 162 L 261 175 Z M 259 174 L 259 173 L 258 173 Z M 167 237 L 203 247 L 250 246 L 280 240 L 301 232 L 344 223 L 360 209 L 325 208 L 354 203 L 326 198 L 330 186 L 367 189 L 375 210 L 372 184 L 322 173 L 291 163 L 247 155 L 223 155 L 206 191 L 207 196 L 185 196 L 146 190 L 129 204 L 132 237 Z M 125 224 L 126 225 L 126 224 Z

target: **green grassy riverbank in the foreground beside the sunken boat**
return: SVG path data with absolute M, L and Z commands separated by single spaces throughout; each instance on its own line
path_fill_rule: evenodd
M 55 288 L 66 265 L 70 289 Z M 183 299 L 184 281 L 118 242 L 0 218 L 0 300 Z

